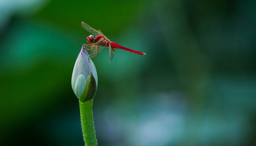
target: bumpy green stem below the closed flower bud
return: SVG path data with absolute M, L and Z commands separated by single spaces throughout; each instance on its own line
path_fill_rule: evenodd
M 93 99 L 79 100 L 83 141 L 85 146 L 98 146 L 93 122 Z

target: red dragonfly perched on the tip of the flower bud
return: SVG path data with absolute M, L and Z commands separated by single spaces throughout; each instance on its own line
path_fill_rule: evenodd
M 84 22 L 81 22 L 81 25 L 86 31 L 88 31 L 90 34 L 92 34 L 86 38 L 86 41 L 89 44 L 83 44 L 86 46 L 86 50 L 94 49 L 95 53 L 90 54 L 89 55 L 90 58 L 95 57 L 98 54 L 99 47 L 108 47 L 109 48 L 109 63 L 110 63 L 110 61 L 112 61 L 112 59 L 114 57 L 114 53 L 115 53 L 114 49 L 123 49 L 125 51 L 129 51 L 129 52 L 132 52 L 135 54 L 146 55 L 146 53 L 132 50 L 132 49 L 123 47 L 117 43 L 109 41 L 109 39 L 105 35 L 103 35 L 103 33 L 100 30 L 97 31 Z M 95 35 L 95 37 L 93 35 Z

